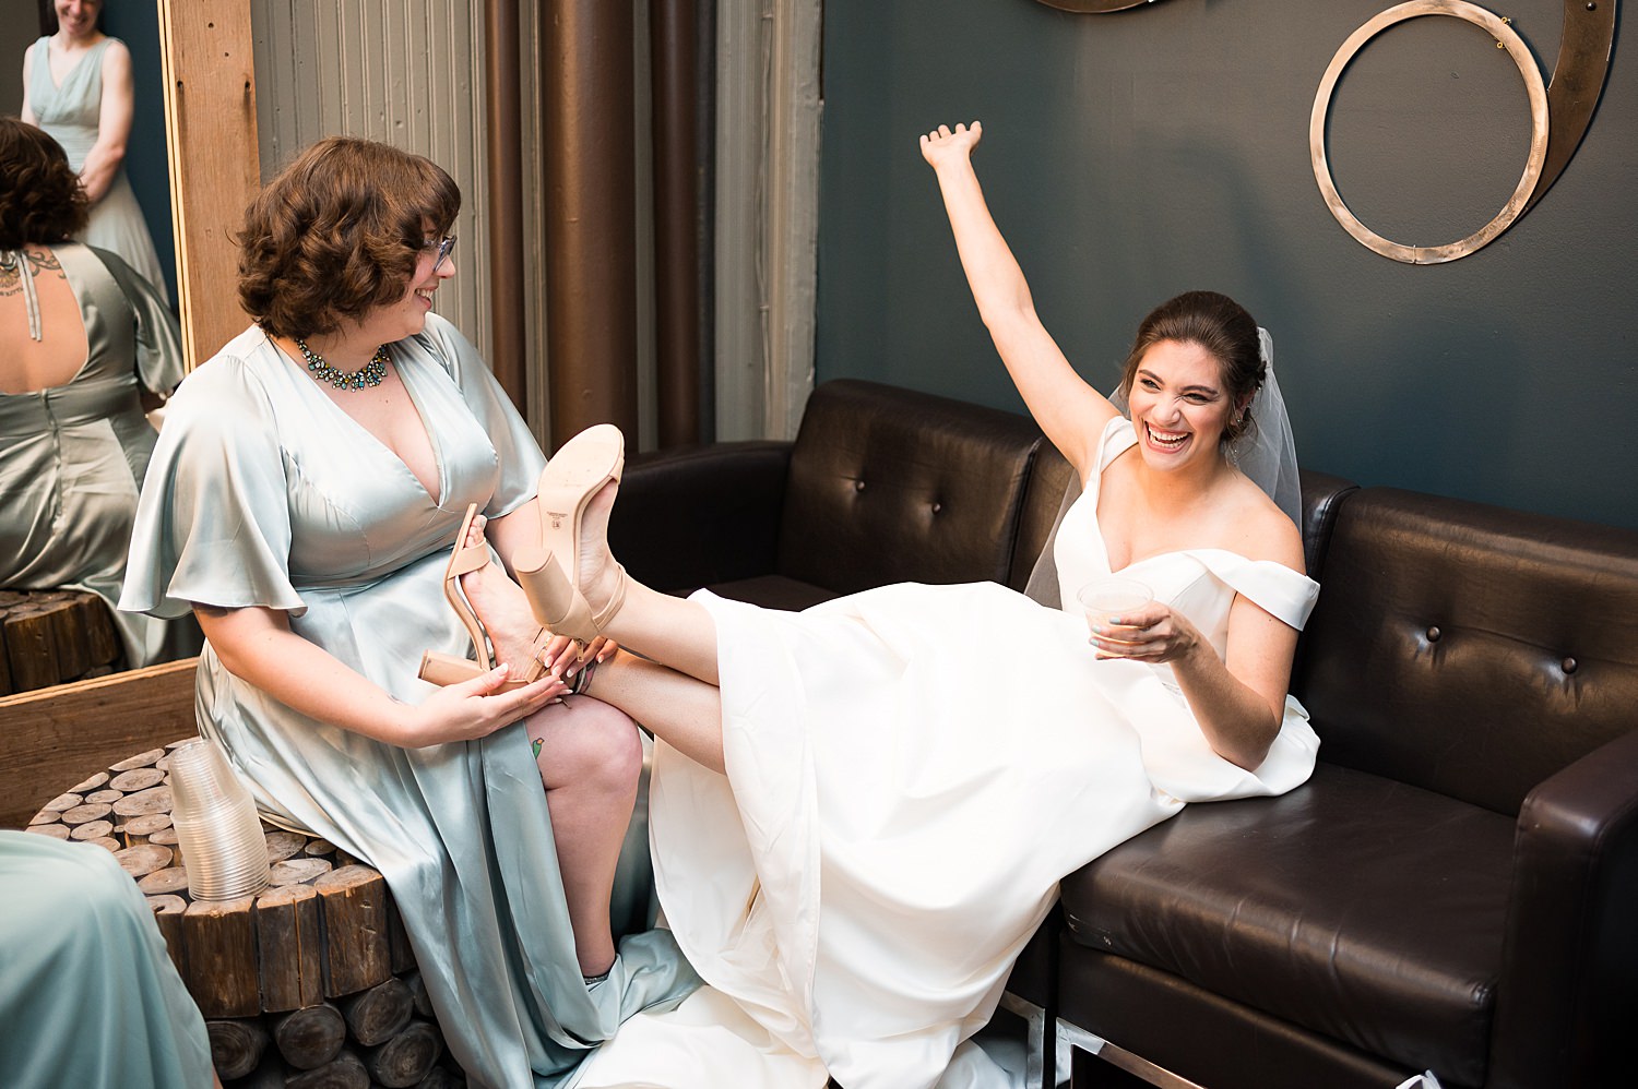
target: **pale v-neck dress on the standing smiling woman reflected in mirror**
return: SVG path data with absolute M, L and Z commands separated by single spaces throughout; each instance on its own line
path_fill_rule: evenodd
M 28 105 L 34 123 L 51 134 L 69 156 L 74 172 L 85 165 L 85 156 L 97 144 L 102 124 L 102 59 L 116 38 L 103 38 L 85 51 L 69 74 L 57 84 L 51 75 L 51 38 L 34 43 L 34 61 L 29 66 Z M 146 106 L 157 110 L 159 103 Z M 147 233 L 147 219 L 136 201 L 136 190 L 124 174 L 124 165 L 115 172 L 113 183 L 90 208 L 90 221 L 79 234 L 87 246 L 120 254 L 144 280 L 154 285 L 159 298 L 169 303 L 165 273 L 159 265 L 154 236 Z

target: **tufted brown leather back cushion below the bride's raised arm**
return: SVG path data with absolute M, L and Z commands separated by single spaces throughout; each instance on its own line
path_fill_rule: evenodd
M 791 450 L 776 573 L 835 593 L 1006 581 L 1040 442 L 1016 413 L 827 382 Z

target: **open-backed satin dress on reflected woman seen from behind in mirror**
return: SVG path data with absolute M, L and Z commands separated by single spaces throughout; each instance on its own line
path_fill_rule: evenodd
M 193 617 L 113 612 L 156 441 L 141 391 L 182 382 L 177 319 L 116 255 L 72 242 L 46 249 L 79 301 L 87 352 L 61 386 L 0 393 L 0 586 L 105 599 L 126 665 L 187 658 L 201 642 Z M 0 252 L 0 264 L 26 260 Z M 46 339 L 64 334 L 72 329 L 41 329 Z

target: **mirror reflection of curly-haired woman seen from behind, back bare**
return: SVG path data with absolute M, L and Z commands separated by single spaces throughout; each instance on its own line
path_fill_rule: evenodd
M 93 593 L 126 665 L 169 662 L 198 650 L 192 619 L 113 609 L 154 449 L 144 408 L 182 382 L 177 319 L 118 255 L 69 241 L 84 224 L 62 149 L 0 118 L 0 586 Z

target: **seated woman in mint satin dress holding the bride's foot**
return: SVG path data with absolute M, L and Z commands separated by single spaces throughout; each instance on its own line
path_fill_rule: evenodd
M 416 675 L 426 650 L 486 662 L 444 598 L 450 545 L 477 506 L 505 562 L 545 463 L 431 313 L 459 208 L 432 162 L 360 139 L 269 183 L 239 234 L 257 324 L 167 408 L 121 604 L 198 616 L 200 730 L 269 820 L 383 873 L 468 1078 L 568 1086 L 696 978 L 649 929 L 639 732 L 565 701 L 567 640 L 524 685 Z

